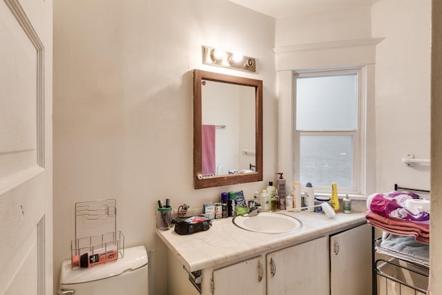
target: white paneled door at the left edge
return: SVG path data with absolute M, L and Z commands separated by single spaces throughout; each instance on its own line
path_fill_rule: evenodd
M 52 294 L 52 0 L 0 0 L 0 294 Z

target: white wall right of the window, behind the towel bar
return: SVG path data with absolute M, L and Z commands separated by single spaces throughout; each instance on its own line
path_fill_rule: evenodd
M 414 153 L 430 159 L 430 0 L 383 0 L 372 8 L 376 46 L 376 188 L 398 183 L 430 189 L 430 166 L 405 166 Z

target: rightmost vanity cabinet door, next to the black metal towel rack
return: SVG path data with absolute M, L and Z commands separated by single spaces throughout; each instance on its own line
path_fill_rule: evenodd
M 332 295 L 372 294 L 371 238 L 367 224 L 330 237 Z

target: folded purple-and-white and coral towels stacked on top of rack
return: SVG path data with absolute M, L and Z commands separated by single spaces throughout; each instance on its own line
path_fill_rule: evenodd
M 413 236 L 417 242 L 430 244 L 430 213 L 408 211 L 407 199 L 421 199 L 415 193 L 392 191 L 387 194 L 374 193 L 367 199 L 365 218 L 370 225 L 390 234 Z

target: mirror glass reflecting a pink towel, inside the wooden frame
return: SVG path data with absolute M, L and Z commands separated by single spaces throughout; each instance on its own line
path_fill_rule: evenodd
M 204 81 L 202 176 L 256 170 L 255 88 Z

